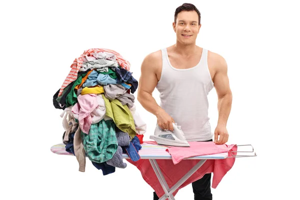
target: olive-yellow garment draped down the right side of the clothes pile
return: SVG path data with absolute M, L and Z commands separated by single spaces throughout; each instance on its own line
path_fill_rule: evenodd
M 112 118 L 116 127 L 123 132 L 127 132 L 131 139 L 136 135 L 133 116 L 127 105 L 122 105 L 118 99 L 109 100 L 104 94 L 102 97 L 105 102 L 105 115 Z

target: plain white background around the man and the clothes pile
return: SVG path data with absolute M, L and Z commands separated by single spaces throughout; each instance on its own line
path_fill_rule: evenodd
M 86 160 L 57 155 L 63 128 L 52 96 L 74 58 L 109 48 L 131 63 L 138 80 L 150 52 L 175 43 L 181 0 L 1 1 L 0 199 L 152 199 L 152 188 L 128 164 L 103 176 Z M 299 199 L 299 35 L 296 1 L 191 0 L 201 13 L 196 44 L 227 61 L 232 109 L 228 144 L 252 144 L 256 157 L 236 158 L 213 199 Z M 137 93 L 134 93 L 136 97 Z M 159 103 L 157 90 L 153 93 Z M 217 96 L 209 93 L 214 131 Z M 147 123 L 156 118 L 136 100 Z M 193 199 L 191 185 L 176 199 Z

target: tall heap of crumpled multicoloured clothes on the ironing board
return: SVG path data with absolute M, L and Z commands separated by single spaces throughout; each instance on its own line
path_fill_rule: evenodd
M 79 171 L 85 171 L 85 156 L 103 175 L 125 168 L 122 153 L 138 160 L 146 123 L 134 105 L 138 82 L 130 63 L 116 51 L 85 50 L 71 64 L 53 105 L 62 109 L 62 142 L 73 153 Z

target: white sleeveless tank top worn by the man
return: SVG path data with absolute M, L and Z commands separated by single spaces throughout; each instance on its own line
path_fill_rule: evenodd
M 166 48 L 161 53 L 162 70 L 156 85 L 160 107 L 181 126 L 187 141 L 212 139 L 207 95 L 213 82 L 207 65 L 207 49 L 203 48 L 199 63 L 187 69 L 173 67 Z

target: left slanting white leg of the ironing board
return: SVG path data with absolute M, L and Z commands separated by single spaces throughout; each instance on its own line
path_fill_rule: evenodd
M 166 198 L 168 198 L 169 200 L 175 200 L 173 194 L 171 192 L 169 192 L 170 188 L 168 187 L 168 185 L 167 185 L 167 183 L 166 183 L 166 181 L 165 181 L 165 179 L 164 179 L 164 177 L 163 177 L 163 175 L 160 171 L 160 168 L 159 168 L 156 160 L 155 159 L 149 159 L 149 161 L 150 161 L 150 164 L 151 164 L 151 166 L 152 166 L 152 168 L 153 168 L 153 170 L 154 170 L 154 172 L 155 172 L 155 174 L 156 174 L 156 176 L 157 176 L 157 178 L 160 182 L 160 185 L 161 185 L 161 187 L 162 187 L 162 189 L 165 193 L 158 200 L 164 200 Z

